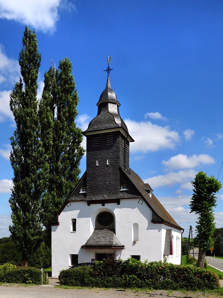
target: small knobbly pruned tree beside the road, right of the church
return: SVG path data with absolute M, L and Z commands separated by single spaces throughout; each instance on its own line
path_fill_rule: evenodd
M 213 176 L 208 177 L 204 172 L 199 172 L 194 181 L 191 199 L 191 212 L 198 214 L 197 245 L 199 247 L 197 266 L 204 268 L 205 253 L 213 247 L 213 234 L 215 231 L 213 208 L 216 206 L 216 195 L 222 184 Z

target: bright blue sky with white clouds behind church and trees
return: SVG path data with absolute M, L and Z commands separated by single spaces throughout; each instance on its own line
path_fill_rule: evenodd
M 112 55 L 111 86 L 135 139 L 130 166 L 150 184 L 167 211 L 195 232 L 190 181 L 200 171 L 218 176 L 223 159 L 222 1 L 0 0 L 0 238 L 9 236 L 12 169 L 9 137 L 15 122 L 9 95 L 19 78 L 18 55 L 27 24 L 42 54 L 38 78 L 66 56 L 80 102 L 78 125 L 96 116 Z M 85 147 L 84 139 L 84 147 Z M 82 173 L 86 157 L 81 161 Z M 219 174 L 223 182 L 223 169 Z M 223 227 L 223 190 L 216 226 Z

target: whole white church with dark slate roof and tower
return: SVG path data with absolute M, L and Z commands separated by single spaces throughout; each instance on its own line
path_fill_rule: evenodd
M 109 62 L 98 114 L 83 132 L 87 169 L 51 221 L 52 277 L 108 255 L 180 264 L 182 228 L 129 167 L 134 139 L 120 116 Z

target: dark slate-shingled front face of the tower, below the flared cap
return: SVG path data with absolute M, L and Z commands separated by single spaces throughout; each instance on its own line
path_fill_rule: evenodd
M 107 145 L 108 134 L 113 134 L 112 145 Z M 92 138 L 95 137 L 98 137 L 98 146 L 94 147 Z M 119 131 L 87 136 L 87 200 L 120 198 L 119 166 Z

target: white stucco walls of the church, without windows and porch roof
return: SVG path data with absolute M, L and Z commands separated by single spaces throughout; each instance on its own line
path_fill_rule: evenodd
M 87 206 L 86 201 L 76 201 L 68 204 L 59 215 L 59 226 L 52 226 L 52 276 L 57 277 L 59 271 L 67 269 L 71 265 L 70 254 L 78 254 L 78 263 L 91 262 L 95 253 L 113 253 L 117 258 L 126 260 L 132 255 L 140 255 L 140 260 L 163 260 L 164 241 L 168 226 L 153 224 L 152 211 L 139 199 L 122 199 L 120 205 L 115 203 L 92 204 Z M 125 245 L 125 249 L 82 249 L 95 228 L 95 218 L 98 213 L 109 211 L 115 219 L 116 236 Z M 71 232 L 71 219 L 76 218 L 76 232 Z M 137 243 L 133 243 L 133 224 L 139 225 Z M 176 254 L 176 237 L 180 237 L 180 231 L 172 228 L 174 238 L 172 257 L 169 262 L 180 264 L 180 254 Z M 181 241 L 180 241 L 181 243 Z M 181 248 L 180 248 L 181 251 Z

